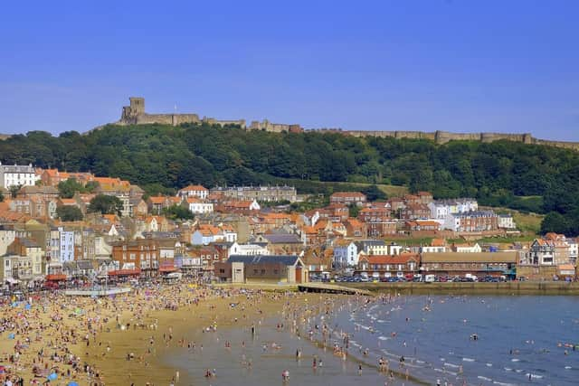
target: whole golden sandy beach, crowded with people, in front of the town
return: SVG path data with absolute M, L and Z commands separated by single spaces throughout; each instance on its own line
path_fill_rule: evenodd
M 63 385 L 184 381 L 185 374 L 177 375 L 178 369 L 159 358 L 171 348 L 195 344 L 185 342 L 185 333 L 249 328 L 304 297 L 186 283 L 139 288 L 118 297 L 30 297 L 3 306 L 1 376 L 23 384 L 49 379 Z

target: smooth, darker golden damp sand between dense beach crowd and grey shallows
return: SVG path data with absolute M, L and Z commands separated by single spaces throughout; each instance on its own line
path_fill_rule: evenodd
M 191 290 L 188 295 L 186 289 L 181 290 L 185 291 L 183 298 L 195 296 L 196 290 Z M 138 318 L 131 314 L 124 315 L 119 319 L 124 329 L 115 325 L 109 332 L 99 334 L 98 344 L 87 351 L 85 358 L 102 371 L 102 381 L 107 385 L 140 385 L 147 382 L 151 385 L 169 385 L 172 381 L 192 384 L 187 366 L 179 368 L 166 361 L 176 349 L 201 349 L 200 341 L 190 338 L 192 333 L 209 335 L 227 329 L 250 331 L 251 325 L 259 323 L 260 318 L 275 315 L 288 304 L 300 304 L 306 297 L 302 294 L 286 297 L 270 292 L 256 293 L 254 290 L 240 294 L 239 289 L 207 294 L 198 304 L 181 304 L 176 310 L 151 310 Z M 219 344 L 218 347 L 221 349 L 223 345 Z M 205 351 L 212 349 L 215 347 L 205 347 Z M 217 364 L 214 363 L 214 366 Z M 176 372 L 179 372 L 178 382 Z

